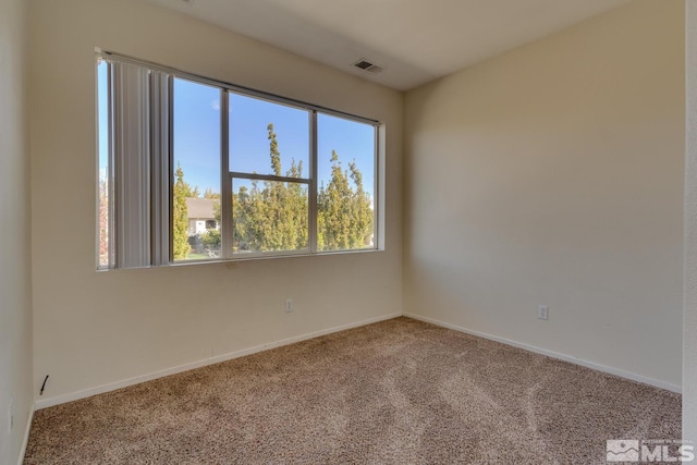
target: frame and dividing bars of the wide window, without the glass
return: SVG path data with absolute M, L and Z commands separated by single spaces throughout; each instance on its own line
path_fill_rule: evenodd
M 307 103 L 301 100 L 291 99 L 282 96 L 278 96 L 271 93 L 266 93 L 257 89 L 253 89 L 245 86 L 240 86 L 231 83 L 227 83 L 223 81 L 218 81 L 209 77 L 205 77 L 195 73 L 185 72 L 182 70 L 178 70 L 170 66 L 163 66 L 157 63 L 152 63 L 149 61 L 144 61 L 139 59 L 135 59 L 132 57 L 123 56 L 120 53 L 105 51 L 96 49 L 96 70 L 100 62 L 105 61 L 108 64 L 107 68 L 107 106 L 108 106 L 108 180 L 109 182 L 109 195 L 112 200 L 108 204 L 109 211 L 109 264 L 107 266 L 100 265 L 99 262 L 99 240 L 97 241 L 97 268 L 98 270 L 108 270 L 108 269 L 127 269 L 127 268 L 143 268 L 143 267 L 132 267 L 132 266 L 120 266 L 119 264 L 119 250 L 118 250 L 118 241 L 114 240 L 114 235 L 118 234 L 118 223 L 119 219 L 117 218 L 117 211 L 114 208 L 115 197 L 114 193 L 114 181 L 117 179 L 115 173 L 115 155 L 114 155 L 114 115 L 113 115 L 113 100 L 114 98 L 119 98 L 113 94 L 112 87 L 112 63 L 118 62 L 126 65 L 138 66 L 142 69 L 146 69 L 148 71 L 149 76 L 149 89 L 150 91 L 156 93 L 156 97 L 149 96 L 149 105 L 156 107 L 155 109 L 150 109 L 150 111 L 161 111 L 164 108 L 164 114 L 168 118 L 167 121 L 167 137 L 166 140 L 158 137 L 160 134 L 158 131 L 161 130 L 161 126 L 157 124 L 150 124 L 146 131 L 150 134 L 154 139 L 154 144 L 150 145 L 151 154 L 149 157 L 154 160 L 157 160 L 160 157 L 164 157 L 166 160 L 163 163 L 151 163 L 151 172 L 149 175 L 155 181 L 150 186 L 150 197 L 148 200 L 148 207 L 152 208 L 156 212 L 160 215 L 159 218 L 163 218 L 166 215 L 169 218 L 168 222 L 168 231 L 162 232 L 159 231 L 161 228 L 158 224 L 158 221 L 154 218 L 154 223 L 150 224 L 148 235 L 149 241 L 152 247 L 156 250 L 159 250 L 159 254 L 152 254 L 149 259 L 149 265 L 144 267 L 157 267 L 157 266 L 181 266 L 181 265 L 189 265 L 189 264 L 209 264 L 209 262 L 220 262 L 220 261 L 244 261 L 244 260 L 254 260 L 254 259 L 266 259 L 266 258 L 282 258 L 290 256 L 314 256 L 314 255 L 334 255 L 334 254 L 352 254 L 352 253 L 365 253 L 365 252 L 377 252 L 384 248 L 384 245 L 381 243 L 381 237 L 383 234 L 381 233 L 382 224 L 380 223 L 381 218 L 381 183 L 380 180 L 382 175 L 379 171 L 381 167 L 380 159 L 382 157 L 380 152 L 381 140 L 380 134 L 383 125 L 372 119 L 358 117 L 355 114 L 346 113 L 339 110 L 329 109 L 326 107 Z M 168 89 L 167 89 L 167 101 L 162 100 L 161 89 L 159 87 L 152 88 L 154 84 L 151 81 L 152 73 L 163 73 L 167 75 L 168 81 Z M 98 77 L 98 73 L 95 73 L 96 77 Z M 157 76 L 156 76 L 157 77 Z M 220 257 L 216 258 L 199 258 L 199 259 L 181 259 L 174 260 L 174 224 L 173 224 L 173 196 L 174 196 L 174 79 L 182 78 L 196 84 L 207 85 L 215 87 L 220 93 L 220 205 L 221 205 L 221 221 L 220 221 L 220 231 L 221 231 L 221 254 Z M 159 95 L 158 95 L 159 94 Z M 308 167 L 308 178 L 290 178 L 290 176 L 276 176 L 269 174 L 257 174 L 257 173 L 247 173 L 247 172 L 233 172 L 230 170 L 230 113 L 229 113 L 229 105 L 230 105 L 230 95 L 237 94 L 244 97 L 250 97 L 256 99 L 266 100 L 271 103 L 288 106 L 290 108 L 299 109 L 307 111 L 309 119 L 309 167 Z M 98 99 L 97 99 L 98 100 Z M 97 115 L 99 115 L 99 107 L 97 102 Z M 318 195 L 319 195 L 319 183 L 318 183 L 318 131 L 317 131 L 317 117 L 318 114 L 327 114 L 334 118 L 344 119 L 347 121 L 353 121 L 356 123 L 366 124 L 372 127 L 374 133 L 374 149 L 372 149 L 372 244 L 369 247 L 362 248 L 347 248 L 347 249 L 334 249 L 334 250 L 319 250 L 318 249 Z M 97 120 L 97 126 L 99 126 L 99 118 Z M 97 147 L 99 147 L 99 127 L 97 127 L 98 137 L 97 137 Z M 166 146 L 166 147 L 162 147 Z M 99 149 L 97 150 L 99 154 Z M 97 157 L 99 158 L 99 157 Z M 169 182 L 163 183 L 162 178 L 164 175 L 163 172 L 158 172 L 157 169 L 160 167 L 167 167 L 167 176 Z M 97 163 L 97 172 L 99 172 L 100 166 Z M 256 180 L 256 181 L 274 181 L 282 183 L 296 183 L 303 184 L 307 186 L 308 192 L 308 224 L 307 224 L 307 234 L 308 234 L 308 247 L 296 250 L 270 250 L 270 252 L 246 252 L 243 254 L 233 253 L 233 243 L 234 243 L 234 223 L 233 223 L 233 180 Z M 159 182 L 158 182 L 159 181 Z M 99 183 L 99 176 L 97 176 L 97 183 Z M 99 232 L 99 218 L 97 219 L 97 230 Z M 164 238 L 167 237 L 167 238 Z M 164 243 L 166 242 L 166 243 Z

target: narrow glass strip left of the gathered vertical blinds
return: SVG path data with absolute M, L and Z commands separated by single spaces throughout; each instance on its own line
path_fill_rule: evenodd
M 98 185 L 98 231 L 99 231 L 99 267 L 108 268 L 111 265 L 110 253 L 110 222 L 111 210 L 109 206 L 109 93 L 108 77 L 109 64 L 106 61 L 99 61 L 97 64 L 97 125 L 99 137 L 99 185 Z

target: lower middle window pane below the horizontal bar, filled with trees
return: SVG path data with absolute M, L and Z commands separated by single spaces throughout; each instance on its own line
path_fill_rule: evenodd
M 306 184 L 234 179 L 232 192 L 233 254 L 309 247 Z

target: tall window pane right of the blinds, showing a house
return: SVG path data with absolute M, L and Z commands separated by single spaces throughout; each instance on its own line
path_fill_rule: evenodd
M 174 260 L 216 258 L 220 250 L 220 95 L 174 79 Z

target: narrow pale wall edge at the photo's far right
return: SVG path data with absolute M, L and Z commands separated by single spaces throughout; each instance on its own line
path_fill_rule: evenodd
M 683 438 L 697 442 L 697 0 L 687 0 L 686 8 L 687 156 L 685 164 Z

